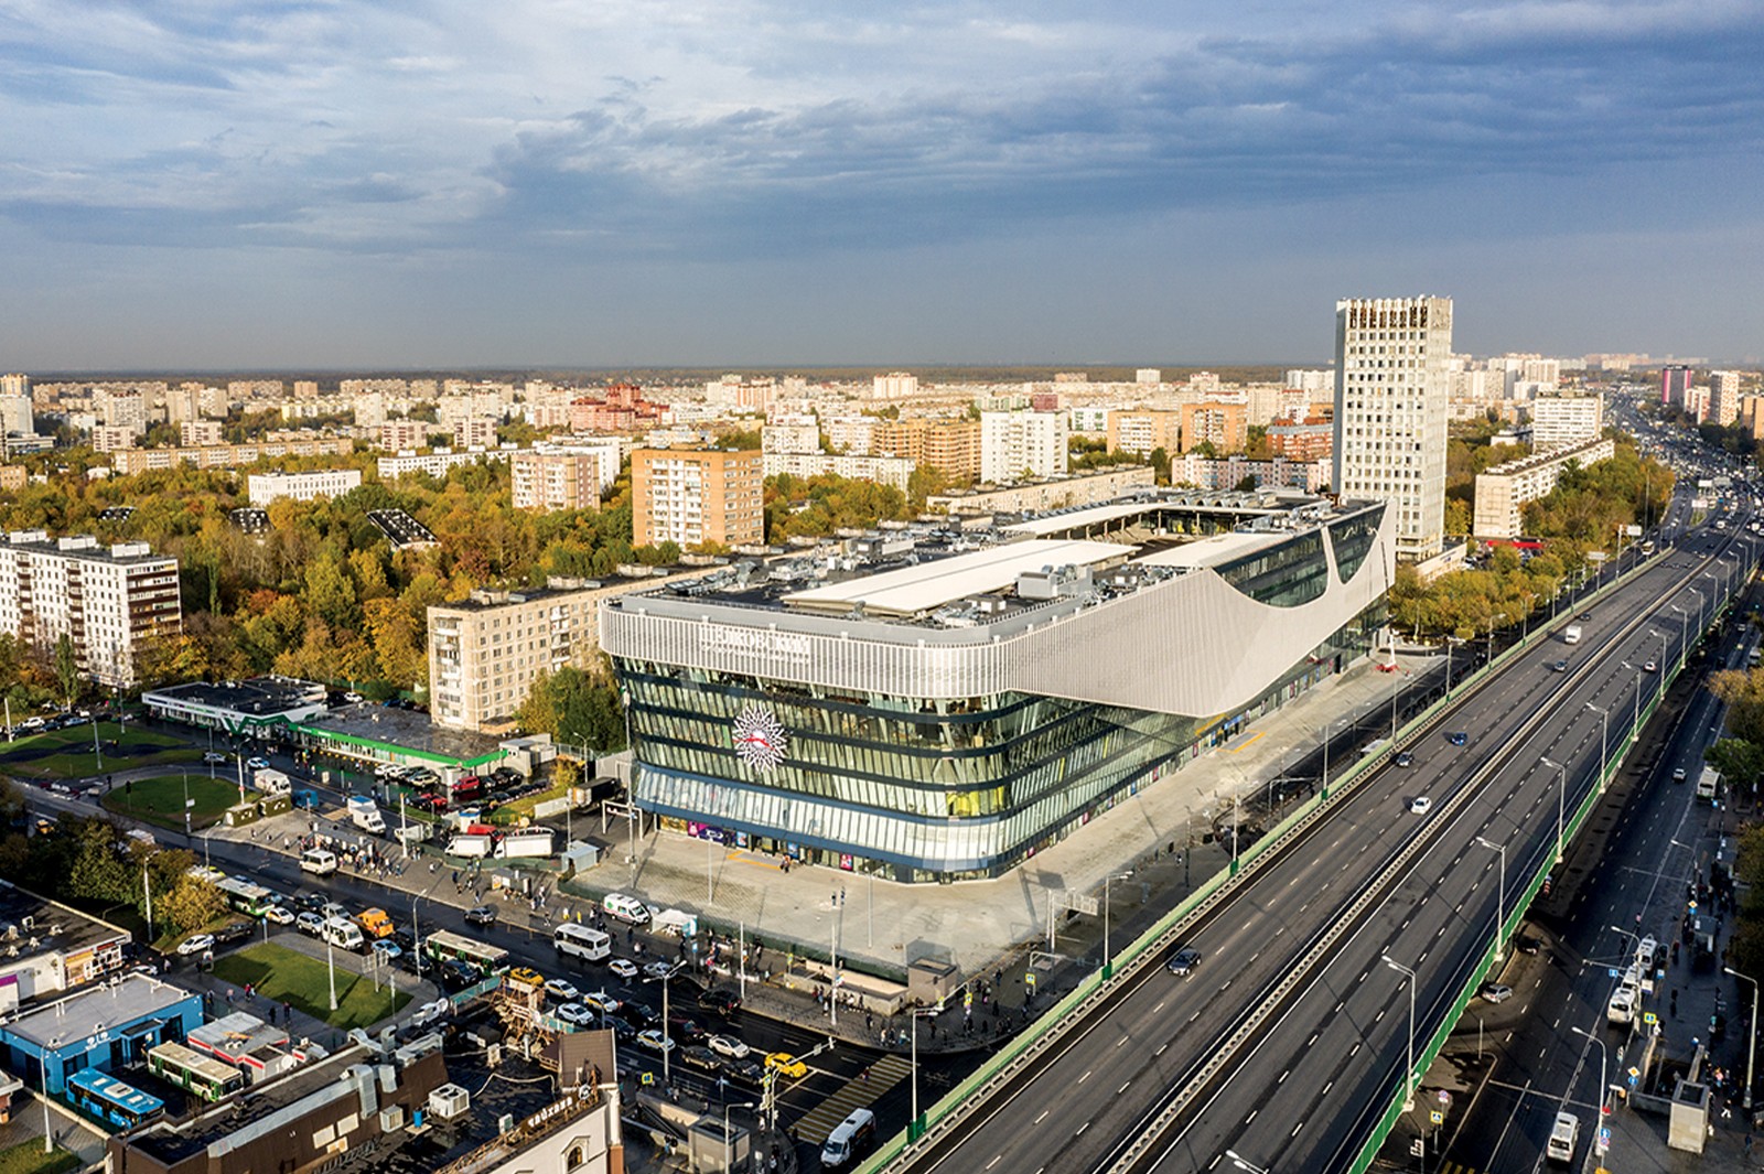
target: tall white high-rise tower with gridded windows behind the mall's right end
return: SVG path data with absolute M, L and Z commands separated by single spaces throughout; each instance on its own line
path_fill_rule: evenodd
M 1392 504 L 1401 559 L 1443 546 L 1450 356 L 1450 298 L 1335 303 L 1335 492 Z

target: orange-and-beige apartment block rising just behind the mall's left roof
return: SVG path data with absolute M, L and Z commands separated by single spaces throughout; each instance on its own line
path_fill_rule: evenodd
M 759 450 L 639 448 L 632 453 L 632 543 L 683 550 L 766 541 L 766 458 Z

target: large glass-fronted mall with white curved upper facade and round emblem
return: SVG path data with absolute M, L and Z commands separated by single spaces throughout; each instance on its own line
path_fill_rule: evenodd
M 1381 502 L 1162 492 L 610 599 L 633 797 L 901 881 L 997 876 L 1365 656 Z

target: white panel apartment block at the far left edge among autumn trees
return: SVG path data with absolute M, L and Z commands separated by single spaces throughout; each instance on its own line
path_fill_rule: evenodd
M 44 647 L 67 635 L 83 677 L 129 687 L 141 645 L 183 631 L 178 561 L 146 543 L 14 531 L 0 543 L 0 631 Z

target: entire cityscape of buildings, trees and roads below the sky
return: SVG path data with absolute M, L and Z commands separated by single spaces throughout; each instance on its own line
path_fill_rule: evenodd
M 1759 374 L 1316 337 L 5 375 L 0 1144 L 1739 1169 Z

